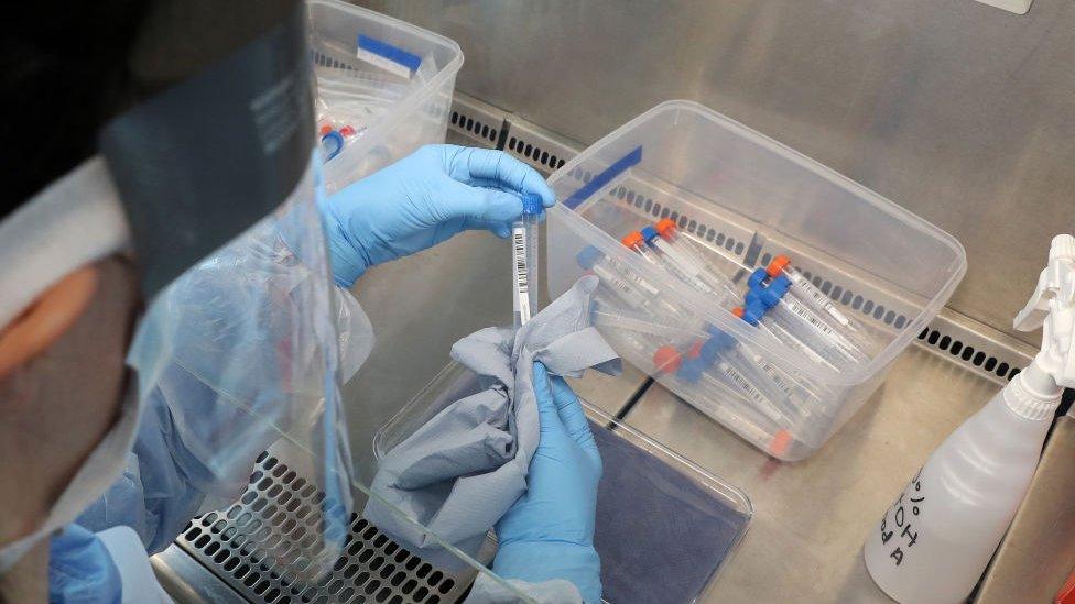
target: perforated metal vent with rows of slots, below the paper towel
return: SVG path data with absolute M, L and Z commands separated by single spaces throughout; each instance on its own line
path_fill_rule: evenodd
M 307 556 L 316 548 L 306 531 L 323 501 L 313 484 L 265 452 L 239 502 L 195 518 L 176 542 L 252 602 L 448 603 L 473 581 L 433 568 L 355 514 L 344 554 L 323 576 L 305 580 L 306 569 L 332 562 Z

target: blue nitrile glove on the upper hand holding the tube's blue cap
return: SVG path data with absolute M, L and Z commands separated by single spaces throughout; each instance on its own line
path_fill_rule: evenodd
M 459 231 L 511 233 L 522 194 L 553 193 L 536 171 L 502 151 L 426 145 L 322 199 L 333 276 L 350 287 L 370 266 L 421 252 Z

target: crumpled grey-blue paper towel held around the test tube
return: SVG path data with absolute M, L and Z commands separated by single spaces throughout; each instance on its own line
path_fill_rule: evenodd
M 381 460 L 373 492 L 408 518 L 464 552 L 477 553 L 486 532 L 526 490 L 538 449 L 533 363 L 578 377 L 587 367 L 619 372 L 616 352 L 590 326 L 596 277 L 569 290 L 518 331 L 487 328 L 452 347 L 452 358 L 479 376 L 482 391 L 434 416 Z M 435 564 L 458 565 L 425 530 L 372 498 L 366 518 Z

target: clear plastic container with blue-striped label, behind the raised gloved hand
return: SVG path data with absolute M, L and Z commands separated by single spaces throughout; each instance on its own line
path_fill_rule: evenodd
M 306 7 L 318 136 L 329 136 L 326 149 L 341 145 L 325 164 L 329 193 L 444 142 L 463 66 L 458 44 L 337 0 L 307 0 Z

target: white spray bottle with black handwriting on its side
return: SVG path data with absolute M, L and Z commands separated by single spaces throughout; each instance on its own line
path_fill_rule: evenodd
M 866 568 L 899 602 L 965 601 L 1027 494 L 1063 387 L 1075 386 L 1071 235 L 1053 238 L 1014 327 L 1044 327 L 1041 352 L 930 455 L 866 540 Z

